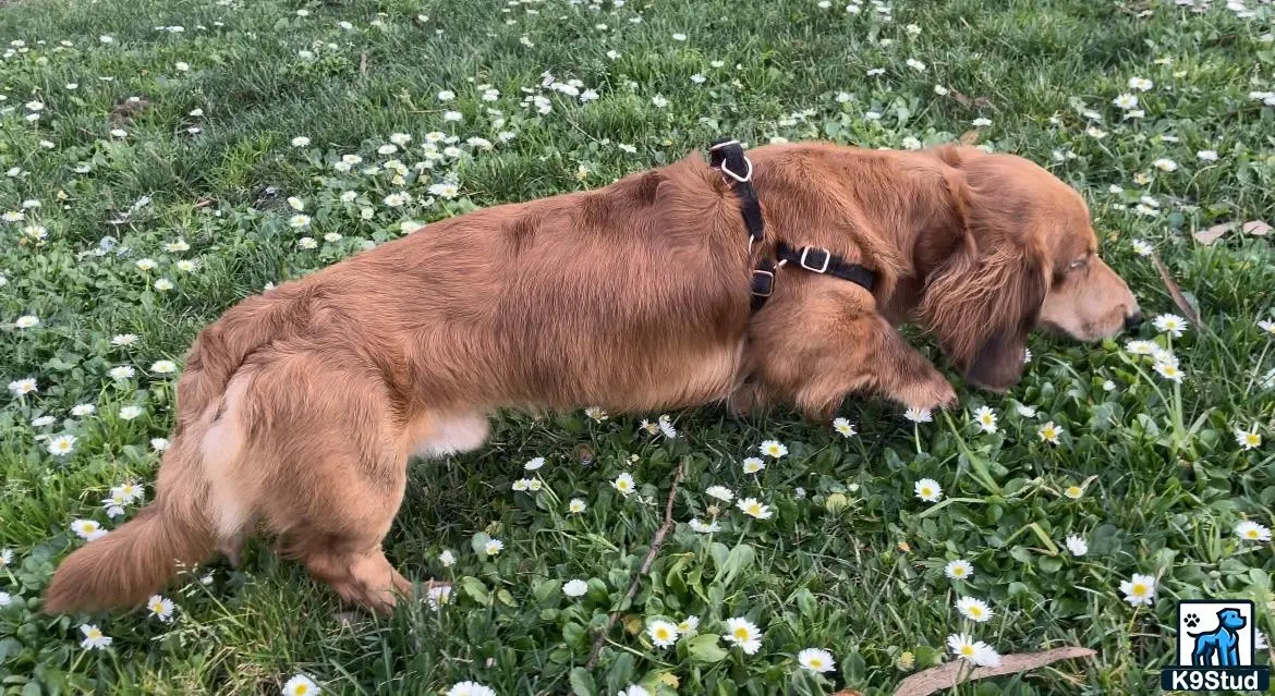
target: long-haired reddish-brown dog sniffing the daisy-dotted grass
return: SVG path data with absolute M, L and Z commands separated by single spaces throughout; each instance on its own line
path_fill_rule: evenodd
M 186 356 L 154 501 L 62 561 L 45 609 L 138 604 L 261 530 L 386 613 L 412 589 L 381 551 L 408 459 L 479 447 L 496 409 L 932 409 L 956 394 L 899 324 L 1005 390 L 1033 328 L 1098 340 L 1140 317 L 1081 196 L 1028 159 L 829 143 L 748 157 L 746 176 L 691 154 L 465 213 L 233 306 Z M 761 272 L 774 282 L 752 311 L 782 245 L 802 259 Z M 833 257 L 871 283 L 827 273 Z

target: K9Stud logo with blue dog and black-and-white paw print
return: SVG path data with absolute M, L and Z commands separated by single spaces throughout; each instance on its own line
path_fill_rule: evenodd
M 1178 602 L 1177 667 L 1160 673 L 1165 691 L 1266 691 L 1270 669 L 1253 665 L 1253 603 Z

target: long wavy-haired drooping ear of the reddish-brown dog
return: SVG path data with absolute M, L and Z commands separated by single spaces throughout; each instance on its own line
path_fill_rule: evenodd
M 1025 210 L 979 186 L 991 158 L 963 156 L 955 148 L 940 154 L 959 221 L 956 246 L 928 274 L 918 315 L 970 382 L 1001 391 L 1023 376 L 1049 280 Z

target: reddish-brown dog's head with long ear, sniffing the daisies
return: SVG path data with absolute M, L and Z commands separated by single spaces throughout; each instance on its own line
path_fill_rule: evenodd
M 952 251 L 926 269 L 919 319 L 970 382 L 1016 384 L 1038 325 L 1099 340 L 1141 320 L 1128 286 L 1098 257 L 1075 190 L 1021 157 L 936 154 L 960 222 Z

